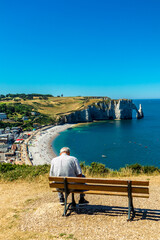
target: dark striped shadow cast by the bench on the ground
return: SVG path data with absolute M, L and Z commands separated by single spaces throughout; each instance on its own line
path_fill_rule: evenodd
M 68 211 L 67 216 L 72 213 L 76 214 L 87 214 L 87 215 L 108 215 L 108 216 L 128 216 L 128 208 L 127 207 L 117 207 L 117 206 L 103 206 L 103 205 L 85 205 L 74 209 L 70 209 Z M 140 209 L 135 208 L 135 218 L 134 221 L 138 220 L 152 220 L 152 221 L 160 221 L 160 210 L 156 209 Z

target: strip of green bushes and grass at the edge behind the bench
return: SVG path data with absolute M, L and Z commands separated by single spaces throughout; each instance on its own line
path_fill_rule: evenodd
M 109 169 L 105 164 L 93 162 L 90 166 L 81 162 L 83 174 L 90 177 L 125 177 L 137 175 L 159 175 L 160 169 L 154 166 L 142 166 L 138 163 L 126 165 L 119 170 Z M 10 163 L 0 164 L 0 180 L 14 181 L 18 179 L 33 180 L 36 177 L 49 175 L 50 165 L 15 165 Z

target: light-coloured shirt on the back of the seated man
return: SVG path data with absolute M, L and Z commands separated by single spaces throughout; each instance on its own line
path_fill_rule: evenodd
M 78 159 L 62 153 L 51 161 L 50 176 L 76 177 L 82 174 Z

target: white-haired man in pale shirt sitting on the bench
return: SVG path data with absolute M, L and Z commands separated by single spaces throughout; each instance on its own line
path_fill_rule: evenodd
M 51 161 L 50 176 L 54 177 L 83 177 L 82 170 L 79 165 L 78 159 L 70 156 L 70 149 L 63 147 L 60 150 L 60 156 L 55 157 Z M 59 201 L 64 205 L 64 195 L 58 192 Z M 89 202 L 85 200 L 84 194 L 80 194 L 79 205 L 85 205 Z

